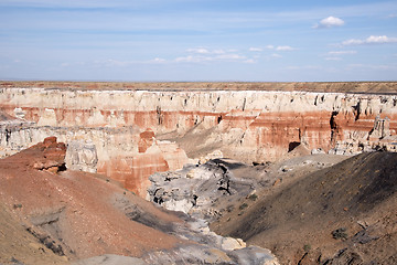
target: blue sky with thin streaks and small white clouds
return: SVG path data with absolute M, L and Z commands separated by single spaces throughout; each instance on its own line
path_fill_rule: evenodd
M 0 80 L 396 81 L 397 1 L 0 0 Z

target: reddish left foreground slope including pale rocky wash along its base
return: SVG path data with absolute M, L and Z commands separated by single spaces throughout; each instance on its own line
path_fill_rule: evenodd
M 50 137 L 0 160 L 2 264 L 278 264 L 265 248 L 65 167 Z

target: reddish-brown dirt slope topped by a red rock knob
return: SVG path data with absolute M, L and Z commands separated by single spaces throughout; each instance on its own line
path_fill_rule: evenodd
M 12 257 L 24 264 L 64 261 L 44 255 L 52 252 L 72 261 L 105 253 L 141 256 L 181 243 L 165 233 L 172 222 L 182 222 L 178 216 L 106 178 L 60 171 L 64 170 L 64 156 L 65 146 L 47 138 L 0 160 L 0 213 L 12 225 L 0 226 L 1 250 L 12 254 L 1 253 L 0 263 L 12 262 Z M 17 231 L 17 236 L 8 230 Z M 19 243 L 13 244 L 13 239 Z M 32 256 L 32 242 L 39 250 L 36 256 Z

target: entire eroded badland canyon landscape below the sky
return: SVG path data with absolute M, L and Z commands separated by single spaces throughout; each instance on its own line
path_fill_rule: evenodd
M 396 264 L 397 83 L 0 83 L 0 264 Z

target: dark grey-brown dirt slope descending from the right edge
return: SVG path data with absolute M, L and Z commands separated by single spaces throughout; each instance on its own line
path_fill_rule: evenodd
M 259 195 L 212 229 L 282 264 L 396 264 L 397 153 L 350 158 Z

